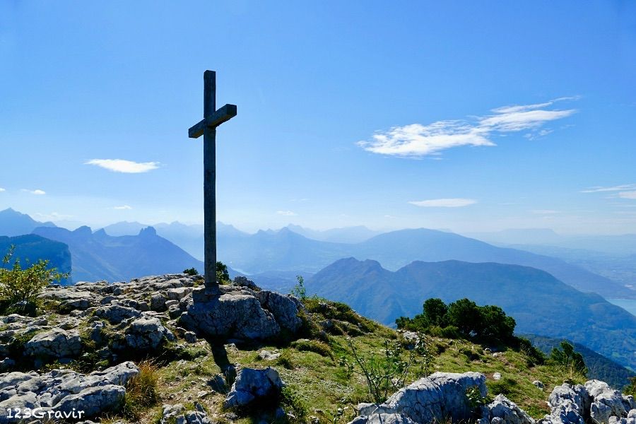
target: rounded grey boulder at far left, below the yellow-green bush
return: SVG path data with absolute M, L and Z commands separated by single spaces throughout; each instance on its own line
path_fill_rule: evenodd
M 34 358 L 73 358 L 82 351 L 77 331 L 51 329 L 38 333 L 24 345 L 26 355 Z

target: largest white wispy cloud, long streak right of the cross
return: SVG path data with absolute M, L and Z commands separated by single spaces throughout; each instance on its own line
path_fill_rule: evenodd
M 558 98 L 535 105 L 512 105 L 493 109 L 493 114 L 469 120 L 437 121 L 432 124 L 394 126 L 377 131 L 371 141 L 358 141 L 358 146 L 372 153 L 419 158 L 439 155 L 447 148 L 459 146 L 496 146 L 490 136 L 516 131 L 538 131 L 547 122 L 563 119 L 576 110 L 546 110 L 555 102 L 577 100 Z M 544 129 L 538 136 L 549 134 Z

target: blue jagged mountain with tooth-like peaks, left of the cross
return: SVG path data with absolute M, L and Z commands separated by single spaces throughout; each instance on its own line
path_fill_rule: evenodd
M 113 237 L 104 230 L 88 227 L 36 228 L 34 234 L 69 246 L 73 261 L 73 281 L 129 281 L 131 278 L 179 273 L 186 268 L 203 271 L 203 263 L 177 245 L 159 237 L 154 228 L 138 235 Z

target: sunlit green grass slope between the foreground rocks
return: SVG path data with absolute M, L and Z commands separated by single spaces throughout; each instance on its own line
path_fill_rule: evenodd
M 401 336 L 386 326 L 372 323 L 357 315 L 345 315 L 343 320 L 334 319 L 333 314 L 326 314 L 341 327 L 355 329 L 366 326 L 369 331 L 353 338 L 360 355 L 370 356 L 382 351 L 382 343 L 386 338 L 398 339 Z M 325 318 L 323 314 L 313 314 L 316 322 Z M 343 318 L 342 314 L 340 318 Z M 353 322 L 353 323 L 352 323 Z M 353 324 L 353 325 L 352 325 Z M 360 325 L 355 325 L 360 324 Z M 321 423 L 332 423 L 334 413 L 338 407 L 348 406 L 340 422 L 346 423 L 353 417 L 353 406 L 362 401 L 371 401 L 367 393 L 363 377 L 353 375 L 348 377 L 343 367 L 338 365 L 341 355 L 351 358 L 346 347 L 346 337 L 343 335 L 329 336 L 329 347 L 333 358 L 319 355 L 313 351 L 302 351 L 292 345 L 269 345 L 254 348 L 235 348 L 225 345 L 225 353 L 229 363 L 240 364 L 242 367 L 264 368 L 275 367 L 289 392 L 293 394 L 294 404 L 300 406 L 296 415 L 301 415 L 300 409 L 305 408 L 306 415 L 302 422 L 309 420 L 309 416 L 316 416 Z M 546 401 L 551 389 L 568 377 L 567 372 L 546 365 L 529 366 L 524 353 L 507 350 L 502 353 L 483 353 L 483 348 L 469 341 L 431 338 L 430 346 L 436 352 L 432 371 L 444 372 L 483 372 L 488 377 L 490 396 L 504 393 L 534 418 L 541 418 L 548 413 Z M 177 360 L 160 367 L 159 394 L 160 403 L 182 403 L 192 408 L 194 401 L 199 401 L 211 413 L 211 416 L 223 420 L 220 414 L 224 396 L 208 394 L 199 399 L 201 391 L 210 391 L 207 382 L 213 375 L 220 373 L 220 368 L 214 358 L 211 346 L 206 341 L 199 341 L 190 348 L 199 351 L 201 356 L 194 360 Z M 278 350 L 282 353 L 278 360 L 259 360 L 258 352 L 262 349 Z M 476 358 L 470 360 L 465 352 L 473 351 Z M 217 355 L 218 360 L 218 355 Z M 408 376 L 408 383 L 418 379 L 419 367 L 414 367 Z M 500 372 L 502 379 L 495 381 L 493 374 Z M 546 386 L 543 391 L 536 388 L 532 382 L 541 380 Z M 580 381 L 579 381 L 580 382 Z M 160 417 L 160 405 L 155 406 L 141 418 L 142 423 L 155 423 Z M 290 412 L 289 406 L 286 411 Z M 291 411 L 294 412 L 294 411 Z M 300 418 L 300 417 L 299 417 Z M 241 423 L 257 422 L 254 416 L 245 416 Z

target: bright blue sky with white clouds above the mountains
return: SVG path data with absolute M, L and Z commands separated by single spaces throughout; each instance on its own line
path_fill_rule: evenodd
M 205 69 L 239 228 L 636 232 L 631 1 L 0 1 L 0 208 L 201 222 Z

